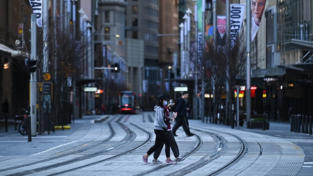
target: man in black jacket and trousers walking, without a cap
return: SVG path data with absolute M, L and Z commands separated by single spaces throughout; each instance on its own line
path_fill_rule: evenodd
M 172 132 L 174 136 L 177 136 L 176 131 L 180 126 L 182 126 L 182 128 L 184 129 L 188 137 L 195 135 L 194 133 L 191 133 L 189 130 L 187 116 L 186 116 L 187 107 L 186 107 L 185 99 L 187 99 L 188 97 L 189 97 L 189 92 L 184 91 L 182 93 L 182 97 L 177 99 L 177 106 L 176 106 L 177 118 L 176 118 L 176 123 L 174 124 L 172 128 Z

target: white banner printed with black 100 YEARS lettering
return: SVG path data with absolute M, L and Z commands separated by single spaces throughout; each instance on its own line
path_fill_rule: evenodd
M 244 18 L 244 4 L 230 4 L 230 39 L 235 45 Z

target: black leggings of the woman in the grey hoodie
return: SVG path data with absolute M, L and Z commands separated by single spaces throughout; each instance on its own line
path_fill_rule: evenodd
M 165 155 L 166 157 L 170 157 L 170 142 L 169 139 L 164 132 L 164 130 L 156 130 L 154 129 L 154 133 L 156 134 L 156 141 L 154 145 L 148 150 L 147 154 L 150 156 L 157 148 L 162 145 L 162 142 L 165 144 Z

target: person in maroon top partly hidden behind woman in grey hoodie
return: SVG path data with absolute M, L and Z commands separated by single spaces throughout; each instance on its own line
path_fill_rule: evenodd
M 166 92 L 163 93 L 163 95 L 166 97 L 166 101 L 169 101 L 170 95 Z M 170 116 L 170 111 L 169 111 L 170 107 L 171 107 L 171 105 L 167 105 L 166 103 L 163 106 L 163 108 L 165 109 L 166 116 L 167 116 L 166 121 L 165 121 L 165 123 L 167 124 L 166 135 L 169 139 L 170 146 L 171 146 L 172 152 L 173 152 L 174 157 L 175 157 L 175 161 L 180 162 L 180 161 L 184 160 L 185 158 L 179 157 L 178 145 L 177 145 L 177 142 L 175 140 L 175 137 L 173 135 L 172 128 L 171 128 L 171 123 L 174 123 L 176 116 L 175 116 L 175 113 L 172 116 Z M 177 113 L 176 113 L 176 115 L 177 115 Z M 162 143 L 161 146 L 158 149 L 156 149 L 156 151 L 154 152 L 152 163 L 162 164 L 162 161 L 158 160 L 158 158 L 159 158 L 160 153 L 162 151 L 163 145 L 164 145 L 164 143 Z

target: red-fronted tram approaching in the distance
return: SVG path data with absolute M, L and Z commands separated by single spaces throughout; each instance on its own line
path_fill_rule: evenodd
M 136 94 L 132 91 L 121 91 L 118 95 L 120 113 L 136 113 Z

